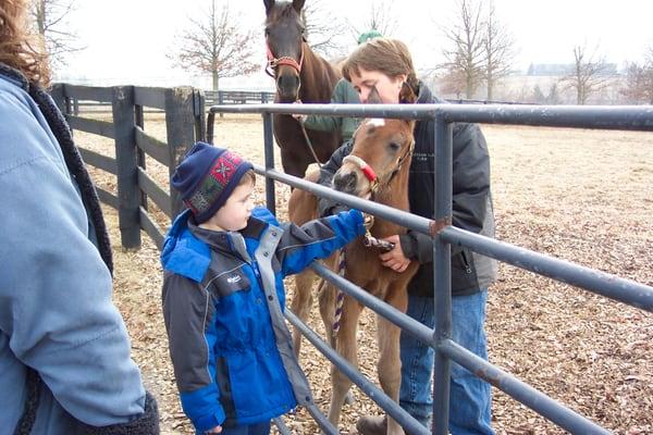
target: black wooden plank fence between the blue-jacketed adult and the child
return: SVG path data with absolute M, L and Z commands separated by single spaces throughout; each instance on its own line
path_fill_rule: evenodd
M 118 195 L 98 187 L 100 200 L 118 210 L 121 241 L 125 248 L 140 247 L 144 229 L 161 248 L 163 232 L 148 212 L 148 199 L 172 219 L 181 210 L 176 192 L 165 191 L 146 171 L 146 156 L 162 163 L 171 175 L 188 147 L 206 136 L 205 97 L 189 88 L 136 86 L 89 87 L 56 84 L 52 98 L 71 129 L 114 140 L 115 159 L 81 148 L 86 164 L 115 175 Z M 93 101 L 111 107 L 111 121 L 82 117 L 73 101 Z M 145 132 L 145 108 L 165 112 L 167 140 Z M 78 112 L 77 112 L 78 113 Z

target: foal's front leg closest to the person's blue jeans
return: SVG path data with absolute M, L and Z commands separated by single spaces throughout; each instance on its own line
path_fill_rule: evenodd
M 402 312 L 406 312 L 408 297 L 406 288 L 391 286 L 385 301 Z M 399 337 L 402 330 L 394 323 L 377 315 L 377 341 L 379 344 L 379 362 L 377 371 L 383 391 L 395 402 L 399 402 L 399 387 L 402 385 L 402 360 L 399 358 Z M 404 430 L 399 424 L 387 418 L 387 435 L 403 435 Z

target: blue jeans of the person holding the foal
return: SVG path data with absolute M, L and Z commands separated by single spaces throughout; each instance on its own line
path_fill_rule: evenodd
M 485 337 L 485 304 L 488 290 L 452 298 L 454 341 L 488 359 Z M 435 312 L 433 298 L 408 297 L 410 318 L 433 328 Z M 402 333 L 402 388 L 399 405 L 424 426 L 430 427 L 433 412 L 433 359 L 434 350 Z M 452 362 L 449 393 L 449 424 L 453 435 L 494 434 L 490 425 L 492 390 L 488 383 L 469 373 L 467 369 Z

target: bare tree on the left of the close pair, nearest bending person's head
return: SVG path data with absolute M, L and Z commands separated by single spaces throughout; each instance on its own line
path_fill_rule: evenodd
M 481 4 L 473 0 L 458 0 L 456 23 L 444 29 L 449 48 L 443 50 L 447 74 L 465 77 L 465 96 L 472 98 L 483 78 L 485 46 Z

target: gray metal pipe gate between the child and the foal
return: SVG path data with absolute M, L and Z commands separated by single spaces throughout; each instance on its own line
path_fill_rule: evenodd
M 266 166 L 256 166 L 266 176 L 268 208 L 274 212 L 274 183 L 281 182 L 318 196 L 331 198 L 349 207 L 379 215 L 407 228 L 431 236 L 433 239 L 435 327 L 430 330 L 394 308 L 369 295 L 318 262 L 311 268 L 330 283 L 374 312 L 383 315 L 402 330 L 416 336 L 435 350 L 434 377 L 448 380 L 451 362 L 466 368 L 476 376 L 503 390 L 547 420 L 578 434 L 607 434 L 607 430 L 558 403 L 517 377 L 482 360 L 451 339 L 451 246 L 461 246 L 539 275 L 570 284 L 642 310 L 653 312 L 653 287 L 633 281 L 558 260 L 529 249 L 469 233 L 452 226 L 452 123 L 530 125 L 550 127 L 579 127 L 623 130 L 653 130 L 652 107 L 543 107 L 543 105 L 466 105 L 466 104 L 257 104 L 212 107 L 208 116 L 208 138 L 212 140 L 215 113 L 261 113 L 266 148 Z M 272 116 L 273 114 L 325 114 L 356 117 L 395 117 L 434 120 L 435 123 L 435 220 L 428 220 L 393 208 L 355 198 L 274 170 Z M 410 434 L 429 434 L 397 403 L 372 382 L 349 365 L 329 345 L 292 312 L 287 320 L 311 341 L 333 364 L 387 414 L 399 422 Z M 433 434 L 448 433 L 449 383 L 434 383 Z M 337 434 L 317 409 L 309 409 L 322 431 Z M 282 428 L 283 432 L 283 428 Z

